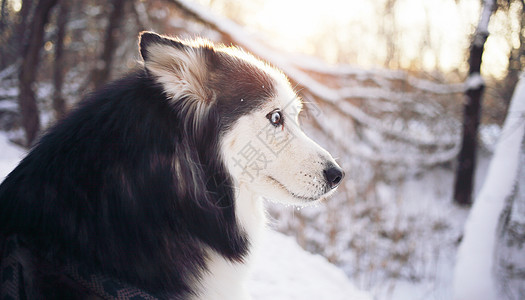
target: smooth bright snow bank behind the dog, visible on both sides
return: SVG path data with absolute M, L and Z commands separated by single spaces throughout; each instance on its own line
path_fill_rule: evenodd
M 0 179 L 26 151 L 0 134 Z M 291 237 L 268 230 L 263 237 L 248 287 L 254 300 L 371 300 L 326 258 L 310 254 Z

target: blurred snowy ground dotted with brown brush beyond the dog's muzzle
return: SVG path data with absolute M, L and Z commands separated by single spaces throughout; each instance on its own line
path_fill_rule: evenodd
M 480 154 L 478 190 L 489 161 L 488 153 Z M 336 198 L 325 203 L 329 209 L 289 208 L 274 226 L 290 233 L 302 226 L 302 245 L 310 251 L 324 246 L 323 254 L 377 300 L 452 299 L 456 252 L 469 213 L 451 202 L 453 181 L 451 168 L 436 167 L 399 185 L 378 183 L 375 195 L 351 207 Z

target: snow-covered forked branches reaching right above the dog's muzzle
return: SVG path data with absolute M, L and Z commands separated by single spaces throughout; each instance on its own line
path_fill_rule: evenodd
M 387 124 L 384 120 L 367 114 L 350 101 L 351 99 L 376 99 L 408 102 L 411 101 L 411 96 L 409 96 L 407 93 L 390 92 L 384 88 L 381 89 L 377 87 L 364 86 L 359 83 L 358 87 L 331 87 L 315 79 L 307 72 L 336 76 L 337 79 L 345 78 L 345 76 L 349 75 L 356 75 L 356 77 L 359 78 L 386 78 L 387 80 L 400 80 L 408 83 L 408 85 L 417 91 L 441 95 L 463 92 L 465 90 L 465 86 L 463 84 L 437 84 L 428 80 L 409 76 L 408 73 L 404 71 L 364 71 L 349 67 L 347 65 L 330 66 L 318 59 L 310 57 L 306 58 L 301 55 L 286 55 L 266 46 L 254 35 L 248 34 L 235 22 L 216 16 L 199 4 L 189 2 L 187 0 L 165 1 L 176 5 L 186 15 L 189 15 L 197 21 L 207 24 L 210 28 L 220 33 L 225 40 L 245 48 L 254 55 L 281 69 L 288 76 L 288 78 L 293 83 L 295 83 L 299 89 L 301 89 L 301 94 L 313 96 L 313 98 L 315 98 L 319 103 L 326 104 L 334 108 L 338 113 L 350 117 L 351 120 L 360 126 L 368 127 L 384 134 L 388 138 L 410 143 L 417 147 L 435 147 L 438 149 L 435 153 L 433 153 L 435 156 L 424 155 L 421 158 L 416 159 L 411 157 L 411 162 L 417 161 L 423 165 L 433 165 L 451 160 L 457 154 L 456 145 L 458 144 L 458 140 L 455 137 L 441 137 L 439 134 L 434 134 L 434 136 L 411 135 L 410 133 L 407 133 L 407 130 L 394 129 L 391 124 Z M 333 82 L 335 81 L 336 80 Z M 373 103 L 367 104 L 374 106 Z M 375 105 L 378 106 L 378 104 Z M 417 105 L 408 106 L 408 109 L 414 112 L 418 108 L 419 107 Z M 424 110 L 420 109 L 418 112 L 423 113 Z M 432 124 L 428 126 L 432 126 Z M 336 142 L 339 141 L 336 140 Z M 370 155 L 368 157 L 374 161 L 377 160 L 377 157 L 380 157 L 385 161 L 397 160 L 399 162 L 400 159 L 403 160 L 401 156 L 390 157 L 388 155 Z

